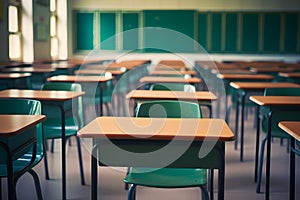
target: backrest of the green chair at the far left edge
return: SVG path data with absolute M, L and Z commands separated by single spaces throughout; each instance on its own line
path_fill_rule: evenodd
M 0 114 L 16 114 L 16 115 L 41 115 L 41 102 L 30 99 L 0 99 Z M 13 146 L 24 142 L 26 134 L 14 136 Z M 43 131 L 42 124 L 36 126 L 36 137 L 37 137 L 37 155 L 43 155 Z M 21 156 L 29 149 L 24 149 L 19 152 L 16 157 Z M 0 148 L 0 154 L 2 154 Z M 5 162 L 4 157 L 1 156 L 0 162 Z

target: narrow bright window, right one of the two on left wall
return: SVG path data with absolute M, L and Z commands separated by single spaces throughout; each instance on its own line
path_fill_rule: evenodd
M 58 57 L 58 38 L 57 38 L 57 0 L 50 0 L 50 45 L 51 57 Z

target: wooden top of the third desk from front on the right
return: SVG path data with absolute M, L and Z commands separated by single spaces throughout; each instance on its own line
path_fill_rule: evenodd
M 300 88 L 299 84 L 289 82 L 231 82 L 235 89 Z

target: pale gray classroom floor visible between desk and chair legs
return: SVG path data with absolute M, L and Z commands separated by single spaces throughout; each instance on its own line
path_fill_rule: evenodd
M 244 162 L 239 161 L 239 150 L 234 150 L 234 142 L 226 144 L 226 175 L 225 175 L 225 199 L 264 199 L 264 193 L 255 192 L 254 183 L 254 141 L 255 129 L 253 128 L 253 117 L 249 116 L 246 121 L 245 131 L 245 156 Z M 232 120 L 233 122 L 233 115 Z M 233 126 L 233 123 L 231 123 Z M 90 199 L 90 156 L 89 152 L 83 148 L 84 169 L 86 176 L 86 185 L 80 185 L 77 153 L 75 140 L 72 140 L 72 146 L 67 148 L 67 198 L 68 199 Z M 271 159 L 271 198 L 270 199 L 288 199 L 289 190 L 289 157 L 286 151 L 286 141 L 280 145 L 279 140 L 272 143 Z M 49 168 L 51 180 L 46 181 L 44 176 L 43 162 L 36 168 L 39 174 L 43 196 L 45 200 L 61 199 L 61 162 L 60 162 L 60 142 L 55 143 L 55 152 L 49 155 Z M 300 164 L 299 158 L 296 162 Z M 116 200 L 126 199 L 127 192 L 124 190 L 122 178 L 125 175 L 124 168 L 99 168 L 99 199 Z M 300 183 L 300 171 L 296 172 L 296 180 Z M 216 176 L 215 176 L 216 177 Z M 2 181 L 2 192 L 4 199 L 7 198 L 6 180 Z M 215 181 L 216 183 L 216 181 Z M 264 191 L 264 180 L 262 184 Z M 217 199 L 217 186 L 215 185 L 215 199 Z M 31 177 L 25 174 L 17 184 L 17 196 L 22 199 L 36 199 L 34 184 Z M 298 191 L 298 199 L 300 191 Z M 153 189 L 138 188 L 137 198 L 143 200 L 150 199 L 201 199 L 199 189 Z

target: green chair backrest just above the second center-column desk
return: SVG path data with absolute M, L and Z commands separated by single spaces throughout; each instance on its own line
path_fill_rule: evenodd
M 150 90 L 195 92 L 196 88 L 193 85 L 184 83 L 154 83 L 151 84 Z

